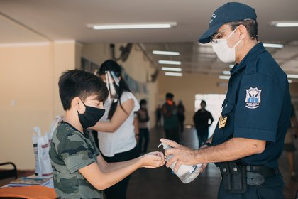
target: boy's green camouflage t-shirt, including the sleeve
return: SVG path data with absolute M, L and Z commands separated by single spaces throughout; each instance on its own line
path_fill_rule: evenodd
M 79 173 L 80 168 L 96 162 L 99 154 L 93 137 L 86 132 L 82 134 L 67 122 L 57 127 L 50 145 L 50 159 L 58 198 L 104 198 Z

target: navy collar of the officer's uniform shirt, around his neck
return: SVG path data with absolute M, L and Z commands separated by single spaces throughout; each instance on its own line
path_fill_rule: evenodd
M 253 48 L 249 50 L 248 54 L 245 55 L 240 63 L 236 63 L 236 65 L 233 66 L 233 68 L 230 70 L 231 75 L 245 68 L 251 60 L 255 60 L 255 58 L 257 58 L 258 55 L 260 55 L 260 53 L 263 53 L 265 50 L 266 49 L 264 48 L 263 43 L 257 43 L 255 46 L 253 46 Z

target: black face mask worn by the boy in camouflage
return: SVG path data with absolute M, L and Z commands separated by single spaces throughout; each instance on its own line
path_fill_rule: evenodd
M 83 101 L 82 103 L 84 104 Z M 88 127 L 93 127 L 97 122 L 99 122 L 99 119 L 101 119 L 101 117 L 104 116 L 105 110 L 95 108 L 95 107 L 89 107 L 89 106 L 86 106 L 85 104 L 84 106 L 86 107 L 85 112 L 84 113 L 77 112 L 77 114 L 79 115 L 79 122 L 81 122 L 82 127 L 84 129 L 87 129 Z

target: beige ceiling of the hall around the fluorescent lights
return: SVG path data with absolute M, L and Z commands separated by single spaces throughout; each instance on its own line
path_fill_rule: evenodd
M 258 15 L 259 40 L 282 43 L 270 50 L 288 74 L 298 74 L 298 28 L 275 28 L 271 21 L 298 21 L 297 0 L 250 0 Z M 155 65 L 180 60 L 183 72 L 219 75 L 228 70 L 210 45 L 199 45 L 213 11 L 221 0 L 0 0 L 0 45 L 76 40 L 79 43 L 139 43 Z M 177 22 L 175 28 L 93 31 L 89 23 Z M 180 56 L 153 55 L 175 50 Z

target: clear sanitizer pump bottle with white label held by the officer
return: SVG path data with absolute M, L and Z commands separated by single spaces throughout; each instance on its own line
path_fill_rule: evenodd
M 160 146 L 163 146 L 163 149 L 170 149 L 172 148 L 172 146 L 165 144 L 165 143 L 160 143 L 160 145 L 158 145 L 158 148 Z M 171 156 L 167 156 L 167 161 L 172 158 Z M 170 166 L 170 168 L 172 169 L 172 171 L 175 173 L 174 168 L 175 168 L 175 164 L 176 161 L 174 163 L 172 163 L 172 165 Z M 180 180 L 182 181 L 182 183 L 190 183 L 191 181 L 193 181 L 195 178 L 197 178 L 197 176 L 199 176 L 199 168 L 201 168 L 202 164 L 197 164 L 194 166 L 191 165 L 182 165 L 180 166 L 180 168 L 178 169 L 178 172 L 175 173 L 176 176 L 178 176 L 180 178 Z

